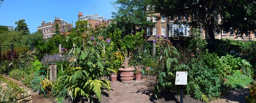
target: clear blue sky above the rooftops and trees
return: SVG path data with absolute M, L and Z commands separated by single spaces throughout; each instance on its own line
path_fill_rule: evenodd
M 115 0 L 5 0 L 0 7 L 0 25 L 16 27 L 15 22 L 25 19 L 30 33 L 36 32 L 42 21 L 59 17 L 75 26 L 78 12 L 83 15 L 98 14 L 111 19 L 116 12 L 110 2 Z

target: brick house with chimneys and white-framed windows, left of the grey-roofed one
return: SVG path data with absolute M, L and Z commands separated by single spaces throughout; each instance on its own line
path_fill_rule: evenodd
M 62 20 L 61 18 L 55 17 L 54 21 L 50 21 L 50 22 L 42 21 L 42 25 L 37 27 L 37 30 L 42 31 L 44 39 L 51 38 L 53 37 L 54 34 L 56 34 L 55 33 L 56 23 L 58 23 L 59 25 L 59 31 L 61 31 L 62 29 L 67 31 L 69 28 L 70 29 L 73 28 L 73 24 L 70 24 Z

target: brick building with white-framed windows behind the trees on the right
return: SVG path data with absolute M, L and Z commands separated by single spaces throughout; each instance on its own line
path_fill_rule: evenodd
M 160 13 L 156 13 L 154 11 L 154 6 L 147 6 L 146 8 L 147 21 L 155 22 L 153 27 L 147 27 L 145 29 L 146 40 L 153 41 L 157 35 L 160 35 L 161 38 L 166 36 L 167 38 L 175 37 L 175 36 L 189 36 L 189 31 L 191 27 L 188 25 L 191 20 L 194 20 L 189 15 L 179 15 L 173 17 L 164 17 Z M 221 17 L 216 15 L 216 22 L 221 23 Z M 203 38 L 208 39 L 209 34 L 205 31 L 204 27 L 198 27 L 200 33 Z M 248 31 L 248 33 L 238 33 L 238 31 L 234 31 L 234 29 L 230 28 L 230 30 L 214 30 L 214 35 L 216 39 L 232 39 L 232 40 L 243 40 L 243 41 L 256 41 L 256 31 Z M 237 36 L 238 35 L 238 36 Z M 239 36 L 239 35 L 242 35 Z

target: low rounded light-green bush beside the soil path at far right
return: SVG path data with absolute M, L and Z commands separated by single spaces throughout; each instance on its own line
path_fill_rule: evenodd
M 239 70 L 233 72 L 234 74 L 227 76 L 227 84 L 230 85 L 230 89 L 242 89 L 254 82 L 251 77 L 242 74 Z

